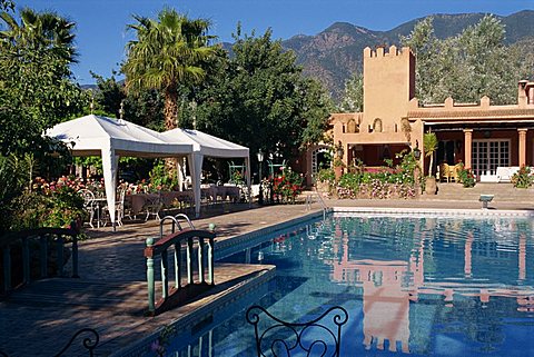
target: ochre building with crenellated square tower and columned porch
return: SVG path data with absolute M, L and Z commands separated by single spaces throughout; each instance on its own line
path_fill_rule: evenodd
M 358 159 L 383 166 L 402 150 L 423 151 L 423 133 L 432 131 L 439 142 L 433 172 L 443 163 L 462 161 L 479 181 L 510 180 L 518 167 L 534 163 L 534 82 L 518 82 L 515 105 L 492 106 L 491 98 L 483 97 L 477 103 L 447 98 L 422 106 L 415 98 L 415 57 L 409 48 L 366 48 L 364 111 L 333 113 L 330 123 L 347 167 Z M 314 173 L 322 150 L 309 153 Z M 424 152 L 421 163 L 425 165 Z

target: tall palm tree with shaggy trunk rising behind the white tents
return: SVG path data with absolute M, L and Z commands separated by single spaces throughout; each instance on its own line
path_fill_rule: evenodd
M 202 66 L 215 54 L 208 46 L 209 21 L 190 20 L 174 9 L 164 9 L 158 20 L 135 16 L 137 23 L 128 28 L 137 31 L 137 40 L 128 43 L 128 59 L 122 66 L 127 90 L 161 90 L 165 98 L 166 129 L 176 128 L 180 86 L 201 82 L 206 76 Z

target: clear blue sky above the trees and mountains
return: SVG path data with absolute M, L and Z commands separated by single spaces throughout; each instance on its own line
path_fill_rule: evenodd
M 125 58 L 132 33 L 131 14 L 156 18 L 165 6 L 191 18 L 212 21 L 210 33 L 231 41 L 238 21 L 244 31 L 275 38 L 315 34 L 333 22 L 345 21 L 372 30 L 389 30 L 405 21 L 433 13 L 491 12 L 507 16 L 534 10 L 534 0 L 14 0 L 17 8 L 53 10 L 77 23 L 79 63 L 72 67 L 80 83 L 91 83 L 89 70 L 109 77 Z

